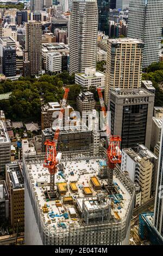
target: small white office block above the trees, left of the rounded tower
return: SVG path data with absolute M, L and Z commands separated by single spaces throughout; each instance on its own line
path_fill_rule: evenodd
M 46 70 L 49 72 L 61 73 L 62 56 L 59 52 L 49 52 L 46 56 Z

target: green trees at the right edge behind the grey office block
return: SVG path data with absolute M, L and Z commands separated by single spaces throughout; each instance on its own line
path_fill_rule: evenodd
M 144 71 L 142 80 L 152 81 L 155 87 L 155 106 L 163 106 L 163 62 L 153 63 Z

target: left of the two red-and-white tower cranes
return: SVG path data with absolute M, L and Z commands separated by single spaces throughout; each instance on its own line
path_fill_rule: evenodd
M 65 94 L 61 103 L 61 109 L 59 112 L 59 117 L 58 117 L 58 123 L 57 127 L 54 133 L 54 138 L 53 141 L 47 139 L 45 142 L 46 146 L 46 156 L 45 156 L 45 161 L 43 163 L 43 167 L 48 168 L 48 171 L 50 173 L 50 191 L 54 191 L 54 179 L 55 179 L 55 173 L 57 173 L 58 168 L 57 164 L 59 163 L 59 160 L 61 157 L 57 157 L 57 142 L 58 142 L 58 137 L 59 137 L 59 132 L 60 132 L 60 127 L 62 124 L 62 118 L 64 115 L 65 107 L 66 107 L 66 100 L 69 92 L 69 88 L 65 89 Z M 60 153 L 58 153 L 60 154 Z

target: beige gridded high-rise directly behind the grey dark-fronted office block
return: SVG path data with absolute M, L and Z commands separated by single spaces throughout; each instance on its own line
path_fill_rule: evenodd
M 106 60 L 105 103 L 109 90 L 141 87 L 143 42 L 137 39 L 109 39 Z

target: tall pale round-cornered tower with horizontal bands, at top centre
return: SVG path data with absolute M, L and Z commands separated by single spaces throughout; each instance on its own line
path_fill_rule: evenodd
M 70 20 L 70 74 L 96 68 L 97 1 L 74 0 Z

